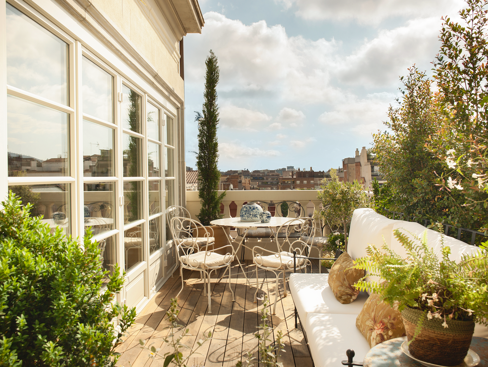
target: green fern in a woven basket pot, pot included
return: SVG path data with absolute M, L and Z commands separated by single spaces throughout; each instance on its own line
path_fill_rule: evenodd
M 468 353 L 474 323 L 488 325 L 488 252 L 449 260 L 450 248 L 442 247 L 442 259 L 422 238 L 410 240 L 399 230 L 395 237 L 407 250 L 402 258 L 385 245 L 369 245 L 367 257 L 355 268 L 386 280 L 359 281 L 355 286 L 378 293 L 402 312 L 408 349 L 415 358 L 442 366 L 460 364 Z

